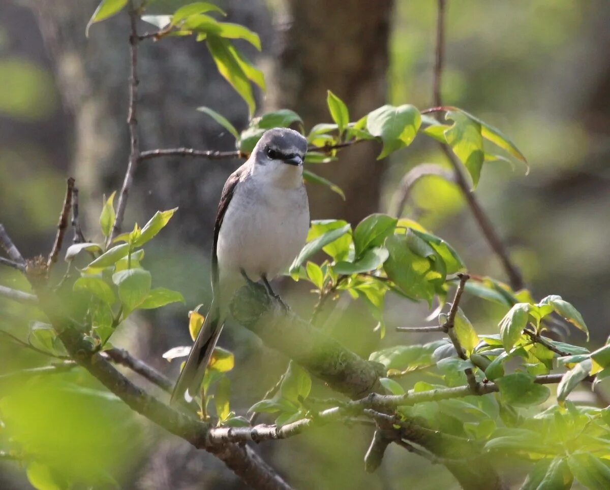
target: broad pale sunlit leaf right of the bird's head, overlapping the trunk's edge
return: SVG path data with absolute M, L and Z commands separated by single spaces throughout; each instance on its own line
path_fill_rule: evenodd
M 383 142 L 383 149 L 377 159 L 381 160 L 393 151 L 411 144 L 420 124 L 422 116 L 413 105 L 384 105 L 369 113 L 367 130 Z

